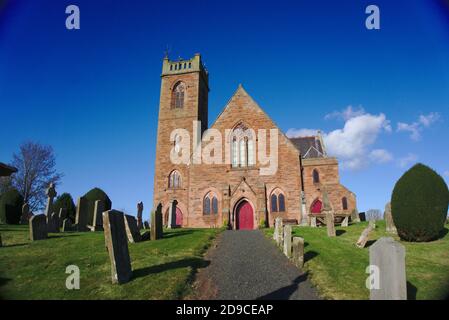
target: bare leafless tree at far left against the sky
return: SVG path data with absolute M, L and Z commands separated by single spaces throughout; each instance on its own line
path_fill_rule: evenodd
M 57 184 L 62 174 L 55 169 L 53 148 L 35 142 L 25 142 L 20 152 L 13 155 L 12 165 L 17 172 L 12 176 L 12 185 L 23 196 L 30 210 L 39 210 L 45 204 L 45 190 L 50 183 Z

